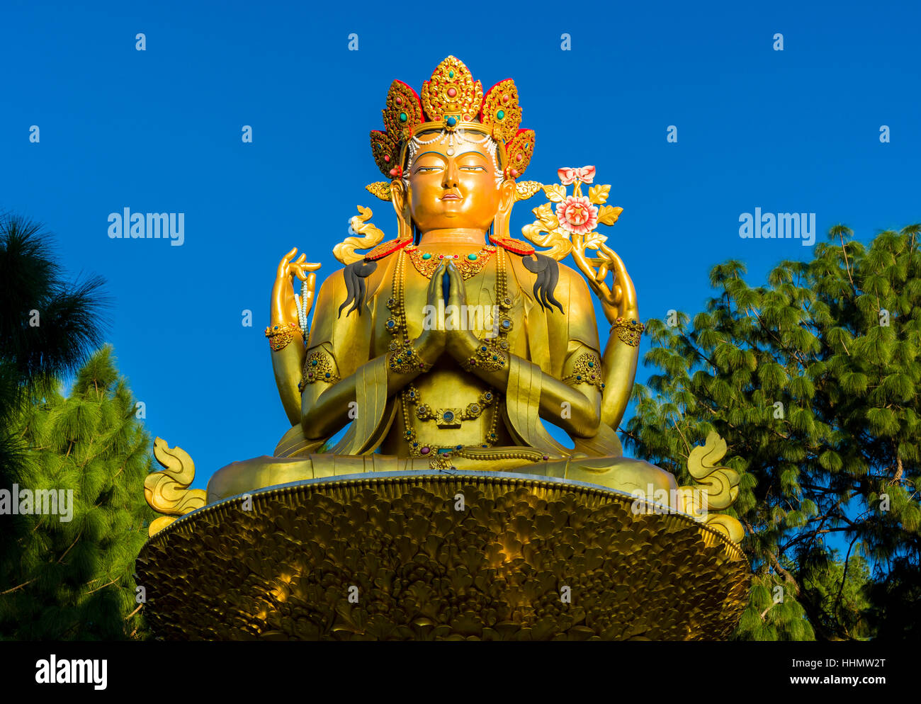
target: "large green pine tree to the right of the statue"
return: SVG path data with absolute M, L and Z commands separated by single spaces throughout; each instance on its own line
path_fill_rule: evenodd
M 921 584 L 919 233 L 868 248 L 838 225 L 767 285 L 730 260 L 693 321 L 647 321 L 656 374 L 635 387 L 626 444 L 681 483 L 708 432 L 729 444 L 754 571 L 740 640 L 917 636 L 916 601 L 892 596 Z

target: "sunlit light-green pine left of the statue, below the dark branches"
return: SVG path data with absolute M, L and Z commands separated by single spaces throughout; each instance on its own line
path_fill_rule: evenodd
M 143 631 L 133 573 L 153 516 L 144 499 L 152 458 L 134 405 L 107 346 L 66 398 L 55 390 L 20 409 L 10 430 L 28 450 L 13 479 L 33 491 L 72 490 L 73 518 L 6 516 L 15 549 L 0 555 L 3 637 L 117 640 Z

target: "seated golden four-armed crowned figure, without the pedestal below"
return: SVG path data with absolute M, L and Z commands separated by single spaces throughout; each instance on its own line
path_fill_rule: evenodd
M 516 472 L 676 495 L 672 475 L 624 457 L 615 434 L 643 326 L 624 262 L 596 231 L 621 212 L 604 204 L 610 187 L 582 194 L 594 167 L 560 169 L 561 183 L 549 186 L 519 180 L 534 133 L 519 129 L 514 83 L 484 94 L 453 56 L 421 97 L 394 81 L 383 118 L 371 147 L 390 180 L 367 189 L 392 203 L 397 236 L 382 243 L 359 207 L 355 237 L 333 250 L 344 269 L 316 296 L 319 264 L 296 259 L 296 248 L 279 262 L 266 336 L 291 429 L 273 456 L 218 470 L 207 502 L 406 470 Z M 549 202 L 534 209 L 525 240 L 510 237 L 512 206 L 540 191 Z M 559 262 L 570 254 L 578 271 Z M 603 352 L 592 293 L 612 326 Z

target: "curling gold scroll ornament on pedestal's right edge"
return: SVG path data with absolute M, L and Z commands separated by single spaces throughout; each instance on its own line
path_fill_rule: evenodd
M 739 473 L 717 464 L 726 456 L 726 450 L 726 441 L 717 433 L 709 433 L 705 444 L 694 447 L 688 456 L 688 472 L 695 479 L 694 485 L 681 487 L 679 492 L 685 497 L 686 514 L 739 543 L 745 537 L 739 521 L 727 514 L 710 513 L 728 509 L 739 498 Z

